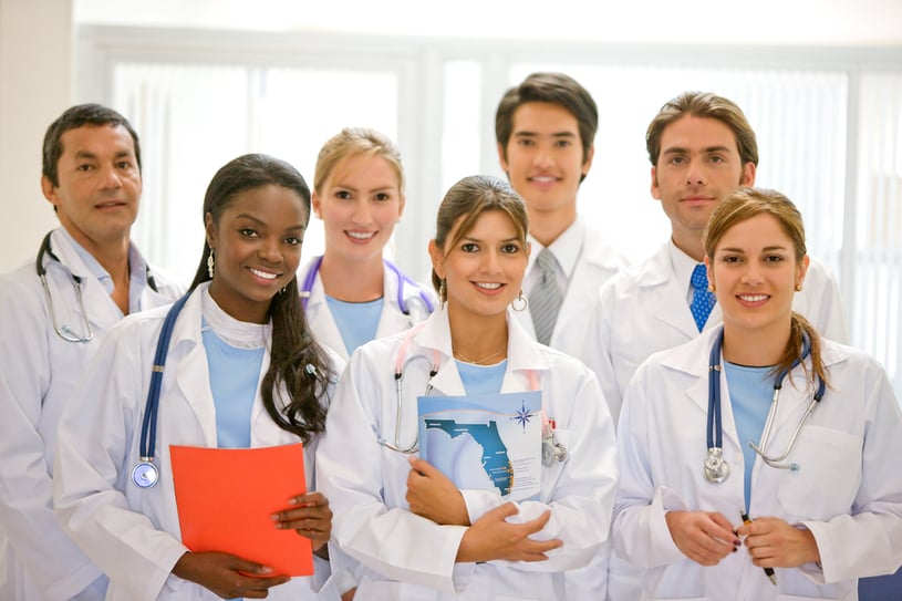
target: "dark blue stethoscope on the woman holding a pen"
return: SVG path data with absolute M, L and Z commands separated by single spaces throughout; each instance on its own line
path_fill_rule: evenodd
M 711 359 L 708 361 L 708 415 L 707 415 L 707 456 L 705 457 L 705 479 L 714 483 L 719 484 L 727 479 L 729 476 L 729 465 L 727 464 L 726 459 L 724 458 L 724 432 L 720 423 L 720 349 L 724 345 L 724 330 L 720 329 L 719 334 L 714 340 L 714 344 L 711 348 Z M 811 412 L 815 411 L 815 407 L 820 403 L 820 400 L 823 398 L 823 392 L 827 388 L 827 384 L 823 382 L 823 379 L 818 375 L 818 390 L 815 393 L 815 396 L 811 398 L 811 402 L 808 404 L 808 408 L 805 411 L 805 414 L 799 419 L 798 425 L 796 426 L 796 431 L 792 433 L 792 437 L 789 439 L 789 443 L 786 445 L 786 449 L 782 452 L 781 455 L 777 457 L 769 456 L 765 454 L 765 449 L 767 448 L 767 443 L 770 438 L 770 428 L 774 426 L 774 418 L 777 415 L 777 404 L 780 398 L 780 388 L 782 388 L 782 381 L 789 374 L 789 371 L 795 369 L 801 361 L 808 358 L 811 352 L 811 342 L 808 340 L 808 336 L 805 336 L 802 343 L 802 356 L 801 359 L 797 359 L 789 370 L 782 370 L 777 377 L 774 380 L 774 396 L 770 401 L 770 410 L 767 413 L 767 421 L 765 422 L 765 428 L 761 433 L 761 439 L 758 445 L 749 441 L 749 446 L 758 454 L 758 456 L 770 467 L 775 467 L 778 469 L 789 469 L 792 472 L 797 472 L 799 469 L 799 465 L 796 463 L 791 464 L 782 464 L 784 459 L 786 459 L 790 453 L 792 453 L 792 448 L 796 445 L 796 438 L 799 436 L 799 432 L 801 431 L 801 426 L 805 424 L 805 421 L 811 415 Z

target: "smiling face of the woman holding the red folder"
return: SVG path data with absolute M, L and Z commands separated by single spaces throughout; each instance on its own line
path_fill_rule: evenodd
M 238 193 L 218 222 L 208 213 L 217 304 L 239 321 L 266 323 L 272 297 L 294 278 L 305 224 L 300 196 L 273 184 Z

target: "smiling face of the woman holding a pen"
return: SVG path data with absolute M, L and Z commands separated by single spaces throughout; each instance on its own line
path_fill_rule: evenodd
M 789 331 L 792 296 L 808 270 L 796 259 L 792 239 L 773 215 L 758 214 L 727 229 L 708 265 L 708 277 L 724 313 L 724 328 Z

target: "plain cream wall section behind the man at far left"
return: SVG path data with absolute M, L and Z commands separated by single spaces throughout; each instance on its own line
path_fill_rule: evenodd
M 44 131 L 72 96 L 72 0 L 0 0 L 0 271 L 56 225 L 41 195 Z

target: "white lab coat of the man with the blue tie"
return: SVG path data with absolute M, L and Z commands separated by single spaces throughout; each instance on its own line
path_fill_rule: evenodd
M 645 261 L 612 278 L 595 297 L 594 308 L 580 315 L 583 351 L 579 355 L 598 375 L 616 423 L 630 379 L 652 353 L 671 349 L 698 335 L 686 302 L 687 290 L 676 281 L 670 242 Z M 792 309 L 827 339 L 846 342 L 846 320 L 836 278 L 811 258 L 805 286 Z M 714 309 L 705 331 L 723 323 Z

